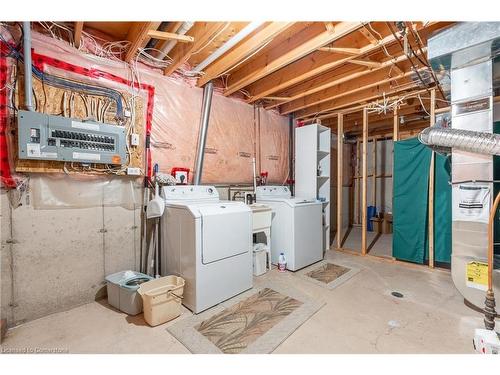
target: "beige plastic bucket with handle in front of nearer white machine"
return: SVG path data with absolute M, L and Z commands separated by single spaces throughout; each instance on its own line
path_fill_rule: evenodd
M 185 281 L 179 276 L 165 276 L 141 284 L 144 320 L 157 326 L 181 315 L 182 294 Z

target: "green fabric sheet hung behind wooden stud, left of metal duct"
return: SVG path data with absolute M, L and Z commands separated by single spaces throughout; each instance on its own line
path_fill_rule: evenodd
M 393 256 L 424 263 L 428 259 L 428 192 L 431 150 L 417 138 L 394 143 Z M 434 177 L 434 260 L 451 260 L 449 159 L 436 154 Z

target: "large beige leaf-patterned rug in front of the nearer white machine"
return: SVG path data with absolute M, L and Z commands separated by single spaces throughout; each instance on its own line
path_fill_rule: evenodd
M 270 353 L 324 303 L 290 287 L 251 289 L 167 330 L 192 353 Z M 229 305 L 224 308 L 224 305 Z

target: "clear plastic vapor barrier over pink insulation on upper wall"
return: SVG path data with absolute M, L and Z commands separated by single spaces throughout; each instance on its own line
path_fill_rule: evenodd
M 35 54 L 58 59 L 89 71 L 96 70 L 122 77 L 123 80 L 120 82 L 120 80 L 109 79 L 105 74 L 86 77 L 57 66 L 45 66 L 47 73 L 59 77 L 115 90 L 128 90 L 140 96 L 145 103 L 144 116 L 152 118 L 152 163 L 158 163 L 160 171 L 164 173 L 169 173 L 172 167 L 185 167 L 193 171 L 201 115 L 203 93 L 201 88 L 180 78 L 165 77 L 161 71 L 142 64 L 138 64 L 139 74 L 136 77 L 132 75 L 130 67 L 121 61 L 85 54 L 63 41 L 40 33 L 33 32 L 32 36 Z M 125 84 L 125 81 L 128 84 Z M 130 82 L 141 86 L 133 88 Z M 146 85 L 153 91 L 145 89 Z M 154 102 L 149 103 L 151 100 Z M 152 113 L 149 113 L 150 108 Z M 259 119 L 255 118 L 253 106 L 214 93 L 202 183 L 251 183 L 254 155 L 257 160 L 261 160 L 260 170 L 269 172 L 269 182 L 281 184 L 286 180 L 288 175 L 288 119 L 277 113 L 260 109 L 255 112 L 258 113 Z M 256 144 L 259 147 L 256 147 Z M 258 154 L 259 150 L 260 154 Z M 191 173 L 190 177 L 192 175 Z M 95 183 L 95 177 L 88 178 Z M 48 192 L 47 189 L 51 190 L 49 185 L 50 182 L 44 187 L 45 192 Z M 90 185 L 89 189 L 92 189 Z M 123 185 L 123 189 L 127 191 L 125 194 L 128 195 L 129 183 Z M 42 183 L 34 182 L 32 187 L 41 188 Z M 101 187 L 96 186 L 95 189 L 98 194 Z M 40 205 L 45 206 L 49 201 L 50 199 Z M 77 201 L 78 199 L 75 202 Z M 70 204 L 70 202 L 67 203 Z M 55 202 L 54 204 L 58 205 Z M 75 204 L 79 205 L 79 203 Z

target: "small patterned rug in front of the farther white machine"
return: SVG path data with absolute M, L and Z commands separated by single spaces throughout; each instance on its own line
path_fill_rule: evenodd
M 318 285 L 333 289 L 358 272 L 358 268 L 322 261 L 299 271 L 299 275 Z

